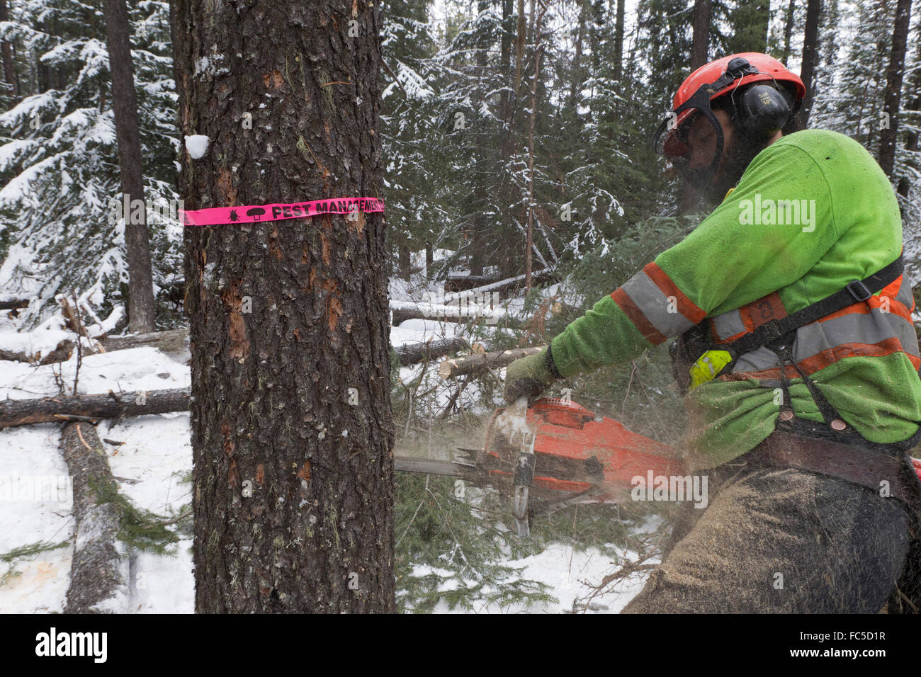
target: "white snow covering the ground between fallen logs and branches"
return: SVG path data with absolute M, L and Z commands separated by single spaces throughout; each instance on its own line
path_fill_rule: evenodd
M 424 259 L 423 259 L 424 263 Z M 398 300 L 425 298 L 424 275 L 414 284 L 391 280 L 391 294 Z M 519 303 L 513 301 L 512 305 Z M 0 317 L 0 348 L 45 354 L 67 337 L 56 321 L 32 332 L 20 332 L 15 321 Z M 391 344 L 401 345 L 459 335 L 461 325 L 452 322 L 410 320 L 391 330 Z M 71 335 L 70 338 L 73 338 Z M 184 356 L 168 356 L 153 347 L 119 350 L 84 356 L 77 375 L 76 356 L 65 363 L 44 367 L 0 361 L 0 397 L 25 399 L 73 390 L 79 393 L 107 391 L 153 391 L 190 385 Z M 418 376 L 419 367 L 402 368 L 406 381 Z M 426 375 L 427 378 L 428 375 Z M 475 384 L 472 384 L 475 388 Z M 178 515 L 191 504 L 189 479 L 192 448 L 189 414 L 139 416 L 98 426 L 99 438 L 109 455 L 119 490 L 140 508 L 160 515 Z M 58 448 L 60 426 L 37 425 L 0 430 L 0 554 L 35 543 L 63 547 L 0 560 L 0 613 L 53 613 L 64 609 L 73 556 L 74 519 L 71 517 L 72 485 Z M 118 444 L 119 442 L 123 444 Z M 173 546 L 173 554 L 136 553 L 128 556 L 127 605 L 130 613 L 192 613 L 192 541 Z M 629 555 L 629 554 L 627 554 Z M 584 594 L 581 580 L 600 580 L 612 569 L 609 558 L 590 549 L 574 553 L 565 544 L 553 544 L 511 566 L 523 567 L 522 576 L 541 580 L 551 587 L 559 604 L 509 609 L 484 603 L 478 613 L 559 613 L 572 608 Z M 619 611 L 642 586 L 643 578 L 624 583 L 621 591 L 597 600 L 606 610 Z M 437 612 L 448 612 L 447 604 Z

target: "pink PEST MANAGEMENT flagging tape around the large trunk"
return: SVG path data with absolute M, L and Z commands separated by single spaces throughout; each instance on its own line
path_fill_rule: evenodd
M 318 214 L 382 212 L 384 203 L 376 197 L 333 197 L 294 204 L 254 204 L 239 207 L 212 207 L 187 212 L 180 210 L 186 226 L 217 226 L 225 223 L 257 223 L 286 218 L 306 218 Z

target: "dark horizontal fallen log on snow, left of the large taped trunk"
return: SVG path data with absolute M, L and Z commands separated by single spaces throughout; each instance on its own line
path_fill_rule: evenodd
M 0 428 L 183 412 L 189 409 L 191 397 L 189 388 L 174 388 L 6 400 L 0 403 Z

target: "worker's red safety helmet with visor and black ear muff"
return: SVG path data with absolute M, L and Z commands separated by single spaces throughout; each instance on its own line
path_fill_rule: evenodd
M 740 105 L 735 110 L 735 122 L 743 127 L 752 127 L 759 120 L 766 119 L 776 124 L 778 119 L 784 120 L 799 108 L 799 103 L 806 96 L 806 88 L 799 76 L 787 70 L 773 56 L 757 52 L 730 54 L 721 59 L 705 64 L 684 78 L 681 87 L 675 93 L 672 102 L 672 111 L 659 125 L 653 145 L 661 155 L 677 160 L 687 158 L 690 146 L 684 142 L 685 134 L 698 115 L 704 115 L 717 130 L 717 148 L 710 164 L 709 181 L 716 172 L 720 158 L 723 155 L 723 130 L 713 114 L 710 102 L 726 94 L 733 94 L 736 90 L 754 83 L 764 82 L 773 84 L 780 96 L 770 93 L 772 88 L 761 88 L 761 97 L 751 97 L 752 103 Z M 786 95 L 783 93 L 787 92 Z M 765 96 L 768 95 L 768 96 Z M 787 99 L 789 97 L 789 99 Z M 735 104 L 735 100 L 733 100 Z M 761 113 L 764 105 L 768 106 L 764 116 Z M 778 116 L 779 111 L 779 118 Z M 753 121 L 753 122 L 752 122 Z M 783 123 L 777 125 L 779 128 Z

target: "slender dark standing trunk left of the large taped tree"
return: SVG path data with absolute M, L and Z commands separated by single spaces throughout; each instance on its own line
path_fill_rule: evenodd
M 131 62 L 128 10 L 124 0 L 106 0 L 106 45 L 112 78 L 112 111 L 122 172 L 122 201 L 144 200 L 141 140 L 137 129 L 137 98 Z M 134 216 L 133 213 L 130 216 Z M 154 282 L 150 269 L 150 234 L 143 223 L 124 215 L 128 250 L 128 321 L 134 333 L 154 331 Z

